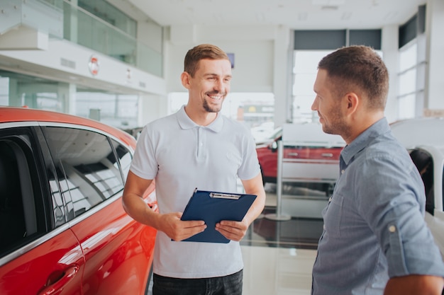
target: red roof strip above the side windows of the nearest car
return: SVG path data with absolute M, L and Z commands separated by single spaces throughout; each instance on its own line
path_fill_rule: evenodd
M 99 121 L 91 120 L 85 117 L 69 115 L 62 112 L 1 106 L 0 123 L 6 122 L 54 122 L 92 127 L 103 132 L 107 132 L 114 137 L 117 137 L 118 139 L 121 139 L 121 141 L 132 146 L 133 148 L 135 146 L 134 137 L 121 129 L 111 127 Z

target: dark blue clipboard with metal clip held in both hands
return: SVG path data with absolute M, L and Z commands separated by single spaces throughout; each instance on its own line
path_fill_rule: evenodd
M 194 190 L 181 220 L 204 220 L 206 229 L 182 241 L 229 243 L 228 238 L 216 231 L 216 224 L 222 220 L 242 221 L 256 197 L 256 195 Z

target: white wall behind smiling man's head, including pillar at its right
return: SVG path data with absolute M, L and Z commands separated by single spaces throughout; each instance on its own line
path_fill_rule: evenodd
M 287 55 L 289 29 L 274 25 L 218 27 L 172 26 L 166 44 L 165 78 L 168 92 L 185 91 L 180 83 L 184 57 L 192 47 L 211 43 L 235 54 L 231 92 L 268 92 L 279 95 L 275 123 L 282 125 L 287 112 Z

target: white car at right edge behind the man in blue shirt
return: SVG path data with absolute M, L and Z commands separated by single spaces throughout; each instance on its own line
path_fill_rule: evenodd
M 444 258 L 444 118 L 423 117 L 391 124 L 396 139 L 409 150 L 426 188 L 426 223 Z

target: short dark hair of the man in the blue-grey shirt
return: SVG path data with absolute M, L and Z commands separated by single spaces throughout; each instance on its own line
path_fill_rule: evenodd
M 357 87 L 368 97 L 367 106 L 384 109 L 389 92 L 389 72 L 382 58 L 371 47 L 343 47 L 321 59 L 318 69 L 325 69 L 335 95 L 343 96 Z

